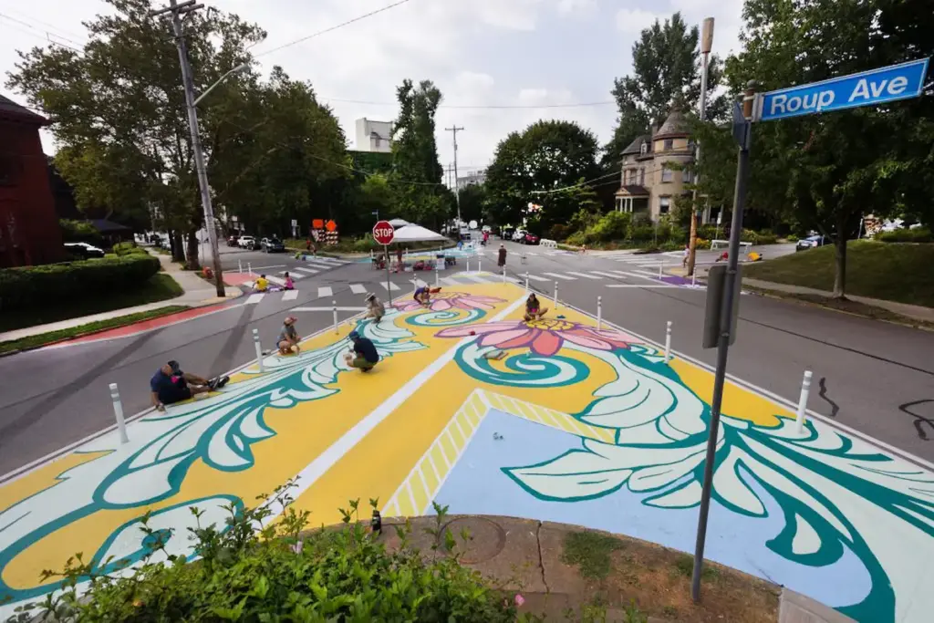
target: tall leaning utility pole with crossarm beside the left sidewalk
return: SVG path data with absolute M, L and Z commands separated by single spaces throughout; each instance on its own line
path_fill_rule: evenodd
M 185 88 L 185 107 L 188 109 L 188 125 L 191 131 L 191 149 L 194 152 L 194 166 L 198 173 L 198 186 L 201 190 L 201 205 L 205 211 L 205 229 L 207 229 L 207 239 L 211 245 L 215 285 L 217 287 L 218 296 L 223 297 L 225 296 L 225 292 L 223 274 L 220 268 L 218 232 L 214 224 L 214 207 L 211 205 L 211 190 L 207 185 L 207 168 L 205 166 L 205 153 L 201 146 L 201 133 L 198 129 L 198 112 L 194 107 L 194 81 L 191 78 L 188 46 L 185 43 L 185 35 L 181 26 L 181 15 L 183 13 L 190 13 L 191 11 L 196 11 L 203 7 L 204 5 L 194 4 L 194 0 L 187 0 L 181 4 L 178 4 L 177 0 L 169 0 L 169 7 L 152 11 L 149 15 L 154 17 L 162 13 L 172 13 L 172 31 L 176 37 L 178 62 L 181 64 L 181 78 Z M 228 74 L 232 72 L 228 72 Z

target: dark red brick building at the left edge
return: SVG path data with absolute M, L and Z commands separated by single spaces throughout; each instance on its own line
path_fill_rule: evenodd
M 0 95 L 0 268 L 64 258 L 39 140 L 39 128 L 49 122 Z

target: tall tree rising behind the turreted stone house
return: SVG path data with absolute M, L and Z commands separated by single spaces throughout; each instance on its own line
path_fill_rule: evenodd
M 687 27 L 681 13 L 671 20 L 658 20 L 642 31 L 632 45 L 632 74 L 616 78 L 613 97 L 619 116 L 613 138 L 603 149 L 604 168 L 617 169 L 623 149 L 639 135 L 648 134 L 652 124 L 660 124 L 672 108 L 695 110 L 701 98 L 701 55 L 697 26 Z M 721 63 L 711 55 L 708 65 L 708 92 L 720 82 Z M 722 97 L 708 98 L 708 117 L 723 115 Z

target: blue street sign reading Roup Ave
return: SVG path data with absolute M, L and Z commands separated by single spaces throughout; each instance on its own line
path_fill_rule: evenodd
M 757 98 L 754 120 L 787 119 L 918 97 L 924 90 L 927 61 L 893 64 L 763 93 Z

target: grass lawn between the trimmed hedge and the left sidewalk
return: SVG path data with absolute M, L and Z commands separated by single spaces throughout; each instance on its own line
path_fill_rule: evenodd
M 94 295 L 78 301 L 55 300 L 50 297 L 49 304 L 43 307 L 14 309 L 4 312 L 0 315 L 0 332 L 100 314 L 124 307 L 158 303 L 159 301 L 174 299 L 184 293 L 185 291 L 171 276 L 165 273 L 157 273 L 149 277 L 149 281 L 135 290 Z

